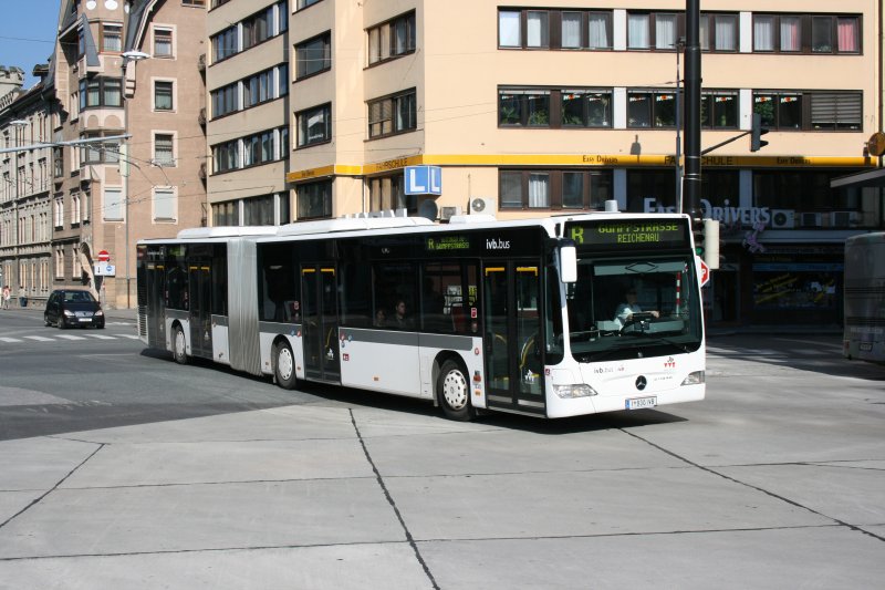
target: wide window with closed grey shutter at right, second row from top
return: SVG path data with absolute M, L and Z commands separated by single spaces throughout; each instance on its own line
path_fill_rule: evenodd
M 753 112 L 762 116 L 762 125 L 778 131 L 862 131 L 863 94 L 861 92 L 789 92 L 753 93 Z

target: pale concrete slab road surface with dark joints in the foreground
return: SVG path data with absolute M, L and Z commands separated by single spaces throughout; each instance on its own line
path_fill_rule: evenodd
M 840 350 L 714 339 L 708 400 L 559 422 L 314 392 L 8 439 L 0 588 L 879 588 L 885 369 Z

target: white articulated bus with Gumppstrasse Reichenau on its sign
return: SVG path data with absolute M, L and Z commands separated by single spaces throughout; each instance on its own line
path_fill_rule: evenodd
M 705 395 L 686 216 L 347 218 L 137 248 L 140 338 L 180 363 L 423 397 L 454 420 Z

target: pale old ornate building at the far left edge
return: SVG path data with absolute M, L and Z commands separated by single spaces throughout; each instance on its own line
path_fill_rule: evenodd
M 52 200 L 48 147 L 50 103 L 45 65 L 34 68 L 40 82 L 21 90 L 21 69 L 0 69 L 0 286 L 17 302 L 45 299 L 52 287 Z M 0 92 L 2 92 L 0 90 Z M 19 149 L 22 148 L 22 149 Z

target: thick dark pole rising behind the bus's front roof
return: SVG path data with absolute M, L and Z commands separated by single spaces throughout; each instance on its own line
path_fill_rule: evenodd
M 693 224 L 701 224 L 700 208 L 700 0 L 686 0 L 685 45 L 685 176 L 683 195 Z

